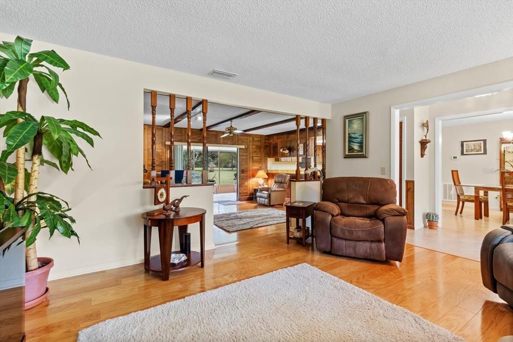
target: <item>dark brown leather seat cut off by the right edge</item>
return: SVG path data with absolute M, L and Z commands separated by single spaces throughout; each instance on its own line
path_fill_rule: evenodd
M 488 232 L 481 245 L 483 285 L 513 307 L 513 225 Z

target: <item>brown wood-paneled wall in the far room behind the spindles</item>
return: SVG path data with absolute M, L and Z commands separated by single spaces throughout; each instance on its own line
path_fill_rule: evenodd
M 201 130 L 192 129 L 192 143 L 202 143 Z M 207 131 L 207 144 L 243 145 L 239 148 L 239 200 L 253 198 L 253 187 L 258 181 L 254 179 L 257 172 L 267 167 L 265 158 L 265 136 L 255 134 L 241 134 L 221 138 L 222 131 Z M 174 128 L 174 142 L 186 142 L 186 129 Z M 167 170 L 169 167 L 169 128 L 156 126 L 156 169 Z M 146 169 L 151 168 L 151 125 L 144 125 L 144 164 Z M 150 174 L 144 174 L 149 179 Z

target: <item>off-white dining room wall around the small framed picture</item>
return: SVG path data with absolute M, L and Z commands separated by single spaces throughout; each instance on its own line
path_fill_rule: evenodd
M 499 138 L 505 130 L 513 131 L 513 121 L 443 127 L 442 182 L 452 184 L 450 170 L 457 169 L 462 183 L 499 184 Z M 486 139 L 487 154 L 461 156 L 461 141 L 473 139 Z M 451 160 L 451 156 L 459 159 Z M 492 209 L 499 208 L 497 195 L 489 193 L 489 206 Z

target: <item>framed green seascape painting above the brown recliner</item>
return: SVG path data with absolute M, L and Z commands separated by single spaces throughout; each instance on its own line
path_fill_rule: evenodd
M 367 158 L 368 113 L 344 116 L 344 158 Z

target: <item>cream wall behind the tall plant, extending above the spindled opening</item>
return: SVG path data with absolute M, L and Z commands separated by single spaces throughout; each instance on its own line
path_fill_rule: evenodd
M 13 41 L 14 36 L 0 33 L 0 39 Z M 41 94 L 36 83 L 30 81 L 27 110 L 36 117 L 46 114 L 82 120 L 103 136 L 103 140 L 96 141 L 95 149 L 83 144 L 94 171 L 90 171 L 83 160 L 74 163 L 75 172 L 68 176 L 48 167 L 42 170 L 41 190 L 69 200 L 77 221 L 75 229 L 81 236 L 79 246 L 76 241 L 56 235 L 48 241 L 48 233 L 41 233 L 37 240 L 38 254 L 55 260 L 50 278 L 143 260 L 141 214 L 154 208 L 152 190 L 142 188 L 141 177 L 144 89 L 240 107 L 330 117 L 328 104 L 44 42 L 32 45 L 33 51 L 46 49 L 56 50 L 71 65 L 71 70 L 60 73 L 71 109 L 66 110 L 65 101 L 53 104 Z M 15 96 L 0 101 L 2 112 L 15 108 Z M 184 206 L 205 206 L 212 210 L 211 202 L 200 200 L 201 196 L 192 188 L 190 194 Z M 179 196 L 179 191 L 171 195 Z M 206 230 L 212 229 L 209 224 Z M 211 238 L 207 247 L 213 247 Z

